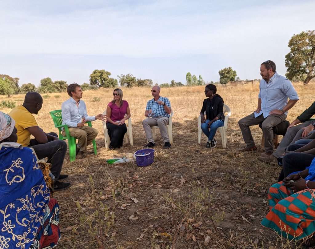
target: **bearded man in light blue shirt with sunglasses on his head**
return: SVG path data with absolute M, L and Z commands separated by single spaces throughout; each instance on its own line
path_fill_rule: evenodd
M 265 136 L 265 152 L 261 156 L 268 157 L 273 153 L 272 128 L 287 118 L 288 110 L 299 100 L 299 96 L 292 83 L 276 72 L 276 64 L 273 61 L 261 63 L 260 75 L 262 80 L 259 85 L 257 109 L 238 121 L 246 143 L 246 147 L 239 151 L 257 150 L 249 126 L 261 124 Z

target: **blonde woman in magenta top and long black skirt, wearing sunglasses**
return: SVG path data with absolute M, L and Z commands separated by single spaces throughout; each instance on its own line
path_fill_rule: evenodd
M 111 143 L 110 149 L 123 146 L 123 137 L 127 132 L 126 119 L 130 118 L 130 109 L 127 101 L 123 100 L 123 91 L 119 88 L 114 90 L 114 100 L 109 102 L 106 109 L 106 127 Z M 127 116 L 125 117 L 125 115 Z

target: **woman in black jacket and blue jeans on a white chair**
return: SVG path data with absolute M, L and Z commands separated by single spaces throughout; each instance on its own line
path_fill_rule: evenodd
M 216 130 L 224 125 L 223 99 L 220 95 L 215 94 L 216 86 L 213 84 L 206 85 L 204 93 L 208 98 L 203 101 L 200 112 L 201 130 L 208 137 L 206 148 L 215 148 Z M 204 117 L 204 112 L 206 112 L 207 119 Z

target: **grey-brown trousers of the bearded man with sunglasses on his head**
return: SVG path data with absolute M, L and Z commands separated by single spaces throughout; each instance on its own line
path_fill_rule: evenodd
M 241 128 L 244 142 L 247 147 L 254 147 L 255 142 L 253 140 L 252 133 L 250 132 L 249 126 L 261 124 L 262 132 L 265 135 L 265 151 L 273 153 L 273 130 L 272 128 L 277 124 L 280 124 L 287 118 L 287 115 L 284 113 L 281 115 L 271 114 L 268 117 L 264 118 L 264 115 L 261 114 L 255 118 L 254 113 L 248 115 L 247 117 L 238 121 L 238 125 Z

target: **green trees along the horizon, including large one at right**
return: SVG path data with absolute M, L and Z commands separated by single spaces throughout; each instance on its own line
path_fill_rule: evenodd
M 285 56 L 285 66 L 287 67 L 286 77 L 292 81 L 303 81 L 308 84 L 315 80 L 315 30 L 303 31 L 300 34 L 293 35 L 289 40 L 289 54 Z M 229 81 L 234 81 L 237 73 L 232 67 L 226 67 L 219 71 L 220 83 L 226 84 Z M 81 85 L 83 90 L 97 89 L 99 87 L 113 88 L 118 86 L 118 82 L 123 87 L 151 87 L 152 79 L 136 78 L 131 73 L 117 75 L 117 79 L 111 78 L 111 73 L 108 71 L 95 69 L 89 77 L 89 84 Z M 213 81 L 211 81 L 213 83 Z M 216 84 L 218 82 L 215 82 Z M 198 86 L 206 84 L 199 75 L 192 75 L 190 72 L 186 74 L 187 86 Z M 7 74 L 0 74 L 0 95 L 11 96 L 12 94 L 26 93 L 29 91 L 37 91 L 40 93 L 65 92 L 67 82 L 64 80 L 52 81 L 51 78 L 43 78 L 37 88 L 34 84 L 22 84 L 19 87 L 19 78 L 13 78 Z M 181 82 L 163 83 L 161 87 L 179 87 L 184 86 Z

